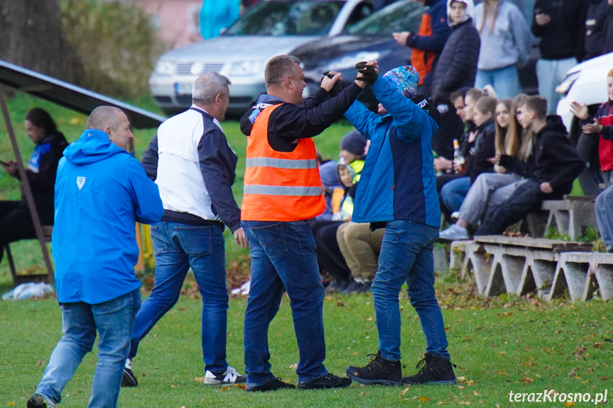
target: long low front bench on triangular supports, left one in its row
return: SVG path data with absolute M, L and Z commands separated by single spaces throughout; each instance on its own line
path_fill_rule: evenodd
M 591 250 L 591 243 L 477 236 L 472 241 L 452 242 L 450 266 L 460 268 L 462 275 L 472 272 L 477 291 L 485 297 L 536 292 L 538 297 L 550 300 L 560 254 Z

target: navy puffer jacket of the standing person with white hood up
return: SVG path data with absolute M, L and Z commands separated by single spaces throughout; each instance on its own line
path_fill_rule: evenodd
M 457 89 L 472 88 L 477 75 L 481 38 L 472 18 L 452 30 L 434 70 L 432 99 L 436 104 L 447 102 Z

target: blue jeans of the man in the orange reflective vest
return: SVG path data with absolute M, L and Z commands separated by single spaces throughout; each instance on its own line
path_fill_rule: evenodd
M 275 379 L 268 351 L 268 326 L 276 315 L 283 287 L 290 298 L 300 362 L 298 381 L 327 374 L 323 365 L 324 290 L 307 221 L 242 221 L 251 249 L 251 287 L 245 311 L 244 348 L 247 385 Z

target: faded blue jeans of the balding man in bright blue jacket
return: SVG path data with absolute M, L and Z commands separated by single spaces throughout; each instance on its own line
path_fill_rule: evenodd
M 99 304 L 60 304 L 64 336 L 51 353 L 36 392 L 49 402 L 60 402 L 66 383 L 75 374 L 85 354 L 92 351 L 98 331 L 98 363 L 87 406 L 116 407 L 134 316 L 140 306 L 141 292 L 138 289 Z

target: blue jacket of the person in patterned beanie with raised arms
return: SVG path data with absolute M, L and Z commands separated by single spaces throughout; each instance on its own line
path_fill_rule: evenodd
M 352 221 L 405 219 L 440 227 L 432 136 L 438 124 L 384 77 L 371 87 L 389 114 L 379 116 L 359 102 L 345 112 L 371 140 L 357 184 Z

